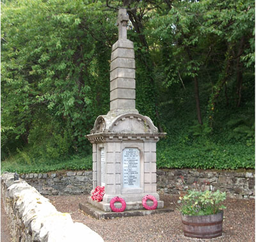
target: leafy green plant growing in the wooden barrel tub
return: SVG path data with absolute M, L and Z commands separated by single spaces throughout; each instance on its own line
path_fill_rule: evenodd
M 220 202 L 226 199 L 226 193 L 220 190 L 211 192 L 209 190 L 188 190 L 187 194 L 180 197 L 180 212 L 182 215 L 215 215 L 225 206 Z

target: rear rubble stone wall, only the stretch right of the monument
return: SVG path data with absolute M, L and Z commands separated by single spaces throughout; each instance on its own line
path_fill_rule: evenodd
M 182 185 L 181 179 L 185 185 Z M 254 170 L 157 170 L 157 190 L 160 193 L 179 194 L 184 186 L 193 188 L 195 181 L 199 184 L 207 183 L 205 190 L 220 190 L 230 198 L 255 199 Z

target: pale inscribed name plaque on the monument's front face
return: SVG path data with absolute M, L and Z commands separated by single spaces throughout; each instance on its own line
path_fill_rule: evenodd
M 123 188 L 140 187 L 140 150 L 125 148 L 123 151 Z

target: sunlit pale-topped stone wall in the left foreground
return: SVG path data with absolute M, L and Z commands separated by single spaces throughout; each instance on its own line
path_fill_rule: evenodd
M 103 241 L 83 223 L 74 223 L 70 214 L 58 212 L 26 181 L 13 178 L 10 173 L 1 176 L 1 194 L 13 241 Z

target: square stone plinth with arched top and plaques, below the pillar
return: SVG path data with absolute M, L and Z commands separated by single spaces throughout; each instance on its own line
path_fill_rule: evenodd
M 143 209 L 141 200 L 150 194 L 156 197 L 157 208 L 163 208 L 157 193 L 156 142 L 164 135 L 141 114 L 99 116 L 92 134 L 86 137 L 93 144 L 93 189 L 104 185 L 105 195 L 102 202 L 88 202 L 102 211 L 111 211 L 109 202 L 118 196 L 125 200 L 129 211 Z

